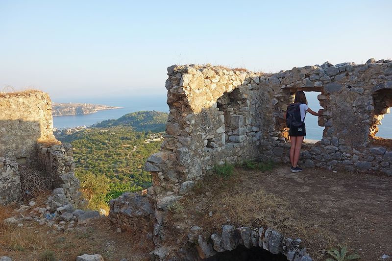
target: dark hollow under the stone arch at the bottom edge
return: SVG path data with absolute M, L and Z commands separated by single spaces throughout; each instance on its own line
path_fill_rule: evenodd
M 203 261 L 287 261 L 287 257 L 283 254 L 274 255 L 261 247 L 246 248 L 239 245 L 232 251 L 218 253 Z

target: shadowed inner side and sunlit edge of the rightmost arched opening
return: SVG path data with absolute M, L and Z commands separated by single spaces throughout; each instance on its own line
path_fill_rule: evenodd
M 376 89 L 373 92 L 373 104 L 374 104 L 374 115 L 370 123 L 369 138 L 374 138 L 378 132 L 378 125 L 381 124 L 381 120 L 384 115 L 390 113 L 390 107 L 392 107 L 392 84 L 391 88 Z

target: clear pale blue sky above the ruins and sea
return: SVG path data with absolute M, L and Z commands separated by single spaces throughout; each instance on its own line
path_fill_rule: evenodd
M 63 102 L 165 95 L 172 64 L 274 72 L 391 59 L 391 12 L 391 0 L 0 0 L 0 88 Z

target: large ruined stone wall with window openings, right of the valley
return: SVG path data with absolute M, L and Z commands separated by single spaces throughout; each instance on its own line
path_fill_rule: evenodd
M 325 127 L 321 141 L 303 145 L 301 166 L 392 175 L 392 149 L 373 145 L 377 125 L 392 106 L 391 60 L 326 62 L 274 74 L 172 66 L 168 75 L 165 141 L 145 166 L 153 179 L 147 198 L 155 210 L 153 217 L 151 212 L 144 217 L 153 219 L 155 254 L 161 260 L 167 254 L 161 231 L 168 207 L 208 170 L 244 160 L 290 162 L 284 113 L 296 91 L 319 92 L 318 122 Z M 136 213 L 143 209 L 129 196 L 113 200 L 111 207 L 117 211 L 113 222 L 128 227 L 135 227 Z

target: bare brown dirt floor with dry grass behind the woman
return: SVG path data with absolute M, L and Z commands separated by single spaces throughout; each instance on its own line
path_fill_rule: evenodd
M 168 241 L 186 241 L 175 228 L 198 225 L 205 236 L 222 224 L 272 227 L 301 238 L 315 260 L 348 246 L 361 260 L 392 255 L 392 177 L 310 168 L 291 173 L 236 168 L 224 180 L 211 175 L 185 196 L 167 218 Z M 211 215 L 212 214 L 212 215 Z

